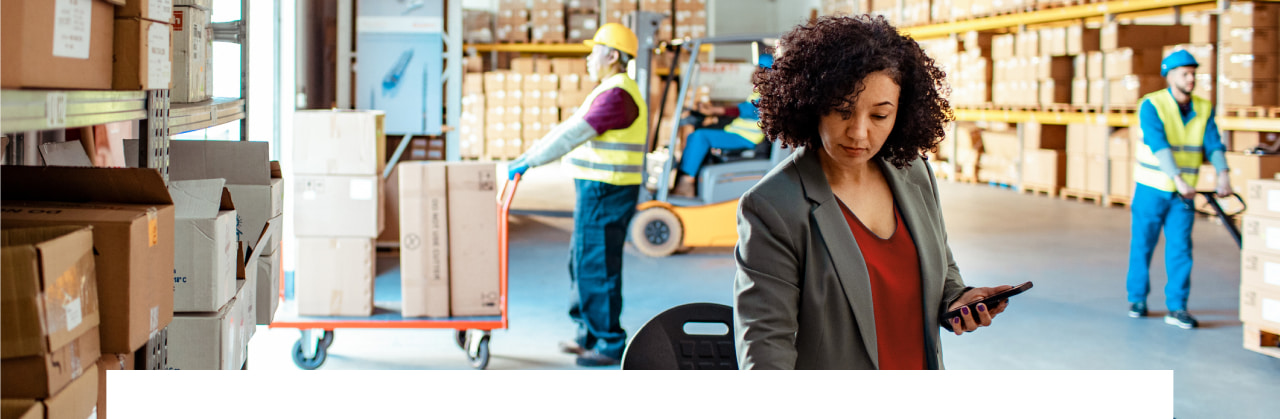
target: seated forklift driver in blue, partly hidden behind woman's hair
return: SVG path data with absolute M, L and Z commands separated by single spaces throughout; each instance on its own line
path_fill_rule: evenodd
M 774 56 L 761 54 L 758 63 L 762 68 L 774 64 Z M 703 158 L 711 149 L 721 150 L 751 150 L 765 140 L 761 132 L 761 115 L 757 113 L 756 103 L 761 100 L 761 94 L 752 92 L 737 106 L 712 106 L 698 104 L 698 111 L 705 115 L 734 117 L 734 120 L 724 128 L 699 128 L 685 137 L 684 151 L 680 152 L 680 173 L 676 176 L 676 186 L 673 195 L 694 196 L 694 181 L 698 178 L 698 169 L 703 165 Z M 683 119 L 683 123 L 690 122 Z

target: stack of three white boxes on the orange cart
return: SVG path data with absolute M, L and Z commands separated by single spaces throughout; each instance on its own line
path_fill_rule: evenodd
M 383 113 L 301 110 L 293 129 L 298 314 L 371 315 L 374 238 L 384 215 Z

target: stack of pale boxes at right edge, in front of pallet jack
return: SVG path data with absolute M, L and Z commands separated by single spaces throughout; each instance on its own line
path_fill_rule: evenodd
M 1241 229 L 1241 323 L 1248 350 L 1277 356 L 1281 332 L 1281 182 L 1253 179 Z

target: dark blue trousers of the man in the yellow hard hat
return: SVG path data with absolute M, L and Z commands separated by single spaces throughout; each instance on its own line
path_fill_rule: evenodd
M 621 359 L 628 334 L 623 331 L 623 245 L 635 215 L 639 185 L 617 186 L 574 179 L 574 234 L 570 238 L 569 316 L 578 324 L 576 343 L 585 350 Z

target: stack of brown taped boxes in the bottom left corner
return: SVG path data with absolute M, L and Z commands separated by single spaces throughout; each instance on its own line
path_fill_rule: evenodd
M 5 229 L 0 245 L 5 418 L 13 407 L 36 411 L 33 418 L 96 418 L 101 313 L 94 228 Z

